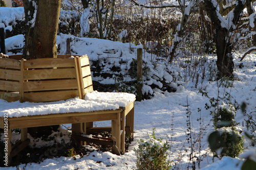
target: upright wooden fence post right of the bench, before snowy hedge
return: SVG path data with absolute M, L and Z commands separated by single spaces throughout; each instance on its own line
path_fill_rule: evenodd
M 142 100 L 142 48 L 137 48 L 137 101 Z

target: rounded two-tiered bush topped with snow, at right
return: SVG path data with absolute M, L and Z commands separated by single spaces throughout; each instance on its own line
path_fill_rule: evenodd
M 220 157 L 238 157 L 244 150 L 242 130 L 236 127 L 238 124 L 234 119 L 236 113 L 231 103 L 224 102 L 211 111 L 216 131 L 209 135 L 208 142 L 211 152 Z

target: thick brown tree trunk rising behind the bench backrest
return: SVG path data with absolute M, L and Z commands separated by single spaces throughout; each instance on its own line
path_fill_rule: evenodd
M 37 7 L 33 6 L 33 3 Z M 25 36 L 24 58 L 56 58 L 56 37 L 60 13 L 60 0 L 24 0 L 25 19 L 30 23 Z M 34 19 L 34 9 L 37 8 Z

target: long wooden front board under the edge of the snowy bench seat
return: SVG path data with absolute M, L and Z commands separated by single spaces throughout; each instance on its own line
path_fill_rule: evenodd
M 97 122 L 103 120 L 114 120 L 117 119 L 119 113 L 110 114 L 97 114 L 97 115 L 81 115 L 81 116 L 68 116 L 68 117 L 56 117 L 56 118 L 40 118 L 40 119 L 28 119 L 19 121 L 9 121 L 9 127 L 11 129 L 16 128 L 28 128 L 28 127 L 39 127 L 39 126 L 51 126 L 61 124 L 78 124 L 83 122 Z M 120 127 L 120 126 L 119 126 Z M 119 130 L 120 133 L 120 130 Z

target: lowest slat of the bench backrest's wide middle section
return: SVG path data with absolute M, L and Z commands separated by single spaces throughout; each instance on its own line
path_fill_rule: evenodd
M 78 90 L 43 91 L 24 93 L 24 101 L 28 102 L 54 102 L 75 98 Z

